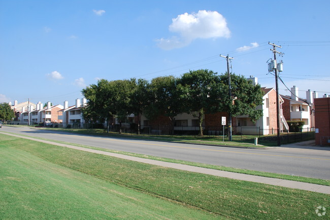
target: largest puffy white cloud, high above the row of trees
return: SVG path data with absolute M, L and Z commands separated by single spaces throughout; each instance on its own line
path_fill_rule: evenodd
M 225 18 L 216 11 L 201 10 L 198 13 L 178 15 L 172 19 L 169 30 L 178 35 L 157 39 L 161 49 L 182 48 L 197 38 L 230 37 Z

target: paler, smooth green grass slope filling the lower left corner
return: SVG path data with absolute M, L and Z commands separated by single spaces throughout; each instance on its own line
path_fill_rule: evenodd
M 218 219 L 182 203 L 174 203 L 122 187 L 49 162 L 1 136 L 1 219 Z

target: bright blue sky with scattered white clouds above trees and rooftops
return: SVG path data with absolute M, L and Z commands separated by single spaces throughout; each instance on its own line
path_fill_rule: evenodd
M 54 105 L 97 79 L 226 72 L 275 87 L 268 45 L 281 45 L 290 88 L 330 95 L 330 1 L 0 0 L 0 102 Z M 288 95 L 279 82 L 281 94 Z

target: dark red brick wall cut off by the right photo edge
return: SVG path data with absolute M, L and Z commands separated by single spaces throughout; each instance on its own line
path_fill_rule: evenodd
M 314 102 L 315 128 L 318 128 L 318 133 L 315 133 L 315 144 L 330 145 L 327 138 L 322 138 L 330 137 L 330 98 L 318 98 L 314 99 Z

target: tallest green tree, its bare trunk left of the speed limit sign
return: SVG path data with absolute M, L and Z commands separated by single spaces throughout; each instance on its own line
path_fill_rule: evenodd
M 182 75 L 180 84 L 188 87 L 185 110 L 199 118 L 200 135 L 203 136 L 203 117 L 205 113 L 217 110 L 221 83 L 217 73 L 200 69 Z

